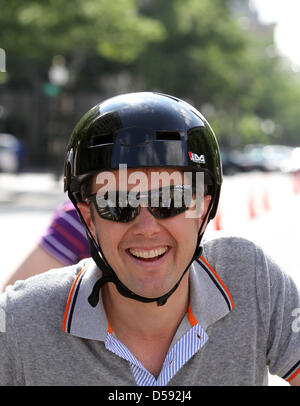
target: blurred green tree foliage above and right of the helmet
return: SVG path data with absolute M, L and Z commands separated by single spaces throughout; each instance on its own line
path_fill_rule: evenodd
M 299 83 L 270 52 L 272 32 L 260 36 L 242 28 L 229 4 L 148 2 L 144 13 L 162 21 L 167 36 L 161 44 L 148 44 L 137 71 L 149 89 L 187 99 L 204 112 L 210 106 L 207 118 L 225 144 L 295 143 L 299 125 L 291 111 L 299 105 Z

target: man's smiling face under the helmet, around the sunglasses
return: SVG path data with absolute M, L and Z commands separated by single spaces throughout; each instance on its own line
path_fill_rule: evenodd
M 154 169 L 139 171 L 143 173 L 142 181 L 139 177 L 139 190 L 156 188 L 153 188 Z M 127 188 L 128 192 L 136 189 L 137 184 L 132 184 L 134 172 L 128 169 L 125 178 L 122 171 L 111 171 L 115 183 L 112 182 L 109 186 L 106 184 L 106 187 L 112 190 Z M 155 172 L 157 174 L 157 170 Z M 159 172 L 172 175 L 172 184 L 183 185 L 186 180 L 181 171 L 175 173 L 174 169 L 160 169 Z M 131 183 L 128 182 L 130 176 Z M 104 182 L 96 177 L 92 192 L 97 192 L 103 185 Z M 93 223 L 89 208 L 82 203 L 79 208 L 94 236 L 97 236 L 106 260 L 121 282 L 134 293 L 153 298 L 167 293 L 192 259 L 209 201 L 210 196 L 206 196 L 202 213 L 196 217 L 183 212 L 171 218 L 158 219 L 147 207 L 141 207 L 139 215 L 128 223 L 103 219 L 91 205 L 94 212 Z

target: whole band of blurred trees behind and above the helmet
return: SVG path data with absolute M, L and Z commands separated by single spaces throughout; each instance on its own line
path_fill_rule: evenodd
M 300 83 L 248 0 L 0 0 L 0 132 L 62 168 L 78 118 L 156 90 L 195 104 L 224 146 L 297 145 Z

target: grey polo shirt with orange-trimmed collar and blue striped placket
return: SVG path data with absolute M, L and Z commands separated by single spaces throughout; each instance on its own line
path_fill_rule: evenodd
M 91 259 L 19 281 L 0 296 L 1 385 L 264 385 L 300 371 L 300 299 L 253 243 L 204 243 L 190 306 L 155 379 L 88 302 Z M 298 311 L 299 310 L 299 311 Z

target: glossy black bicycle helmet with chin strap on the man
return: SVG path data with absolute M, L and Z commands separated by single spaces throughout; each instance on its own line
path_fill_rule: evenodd
M 71 135 L 64 188 L 86 227 L 91 256 L 103 272 L 89 298 L 90 304 L 97 304 L 99 289 L 104 283 L 114 282 L 126 297 L 163 305 L 190 264 L 200 255 L 202 227 L 193 258 L 167 294 L 145 298 L 131 292 L 106 261 L 77 208 L 77 203 L 83 200 L 82 190 L 88 179 L 100 171 L 119 169 L 120 164 L 126 164 L 128 168 L 176 167 L 204 172 L 205 184 L 212 196 L 206 216 L 210 220 L 216 214 L 222 184 L 219 146 L 209 123 L 193 106 L 176 97 L 154 92 L 123 94 L 97 104 L 81 118 Z

